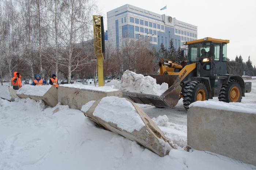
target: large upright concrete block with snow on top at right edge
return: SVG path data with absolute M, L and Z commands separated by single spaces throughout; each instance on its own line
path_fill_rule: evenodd
M 256 105 L 199 101 L 188 110 L 188 145 L 256 166 Z

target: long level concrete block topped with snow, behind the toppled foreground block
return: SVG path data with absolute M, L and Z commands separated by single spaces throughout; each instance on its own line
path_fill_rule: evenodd
M 81 109 L 89 101 L 106 96 L 122 97 L 122 92 L 110 87 L 95 87 L 82 84 L 61 84 L 58 87 L 58 102 L 71 109 Z

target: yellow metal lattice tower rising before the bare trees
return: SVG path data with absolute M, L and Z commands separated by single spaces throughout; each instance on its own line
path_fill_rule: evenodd
M 94 54 L 97 57 L 99 86 L 104 86 L 103 60 L 105 52 L 103 17 L 93 15 Z

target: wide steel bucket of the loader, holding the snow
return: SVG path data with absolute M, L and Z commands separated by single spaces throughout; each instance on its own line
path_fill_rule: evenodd
M 147 75 L 145 75 L 147 76 Z M 149 75 L 157 80 L 157 84 L 168 84 L 168 89 L 162 95 L 151 95 L 123 91 L 123 97 L 135 103 L 148 104 L 156 107 L 174 107 L 180 99 L 180 78 L 177 75 Z

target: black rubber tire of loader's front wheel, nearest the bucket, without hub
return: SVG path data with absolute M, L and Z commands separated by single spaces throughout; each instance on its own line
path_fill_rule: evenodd
M 188 84 L 186 84 L 186 86 L 182 90 L 182 92 L 183 92 L 183 105 L 184 105 L 186 110 L 189 109 L 189 105 L 191 103 L 197 101 L 196 94 L 198 92 L 202 91 L 202 90 L 205 92 L 204 99 L 208 100 L 207 88 L 206 88 L 206 86 L 203 82 L 193 81 L 193 82 L 189 82 Z M 204 99 L 202 98 L 201 101 L 203 101 Z

